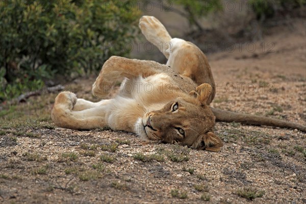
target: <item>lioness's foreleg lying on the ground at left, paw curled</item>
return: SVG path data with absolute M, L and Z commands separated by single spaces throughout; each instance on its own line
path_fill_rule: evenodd
M 106 126 L 103 106 L 96 106 L 82 111 L 74 111 L 77 96 L 71 92 L 62 92 L 52 109 L 52 120 L 60 127 L 74 130 L 90 130 Z

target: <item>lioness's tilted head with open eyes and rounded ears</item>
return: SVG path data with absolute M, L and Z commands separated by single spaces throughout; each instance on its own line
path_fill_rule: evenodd
M 180 142 L 193 148 L 219 151 L 221 139 L 213 132 L 215 116 L 207 105 L 212 93 L 202 84 L 189 95 L 179 97 L 161 110 L 150 111 L 138 120 L 139 135 L 166 143 Z M 139 125 L 140 124 L 140 125 Z

